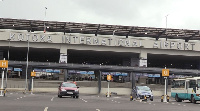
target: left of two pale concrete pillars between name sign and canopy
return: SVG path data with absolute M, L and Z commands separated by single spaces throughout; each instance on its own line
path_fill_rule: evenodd
M 59 63 L 67 63 L 67 48 L 60 48 L 60 60 Z

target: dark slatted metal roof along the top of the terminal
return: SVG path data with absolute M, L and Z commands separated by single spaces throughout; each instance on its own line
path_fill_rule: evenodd
M 200 40 L 199 30 L 0 18 L 0 29 Z

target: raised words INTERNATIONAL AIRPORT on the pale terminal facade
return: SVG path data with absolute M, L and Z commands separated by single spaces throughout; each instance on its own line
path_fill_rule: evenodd
M 148 40 L 146 40 L 148 41 Z M 103 46 L 123 46 L 123 47 L 145 47 L 142 40 L 134 39 L 113 39 L 101 37 L 76 37 L 62 36 L 62 43 L 67 44 L 86 44 L 86 45 L 103 45 Z M 194 50 L 195 43 L 172 42 L 172 41 L 154 41 L 153 48 L 159 49 L 178 49 Z

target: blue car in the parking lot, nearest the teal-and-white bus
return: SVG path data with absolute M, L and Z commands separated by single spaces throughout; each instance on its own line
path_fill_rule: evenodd
M 153 101 L 153 93 L 148 86 L 136 86 L 136 97 L 144 99 L 144 96 Z

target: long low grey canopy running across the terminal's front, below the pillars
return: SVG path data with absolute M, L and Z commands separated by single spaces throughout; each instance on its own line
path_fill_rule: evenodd
M 9 66 L 26 65 L 26 61 L 9 61 Z M 52 69 L 78 69 L 78 70 L 101 70 L 101 71 L 115 71 L 115 72 L 136 72 L 136 73 L 152 73 L 161 74 L 163 68 L 148 68 L 148 67 L 131 67 L 131 66 L 111 66 L 111 65 L 87 65 L 87 64 L 63 64 L 50 62 L 29 62 L 29 65 L 34 68 L 52 68 Z M 170 74 L 179 75 L 199 75 L 200 70 L 192 69 L 174 69 L 170 68 Z

